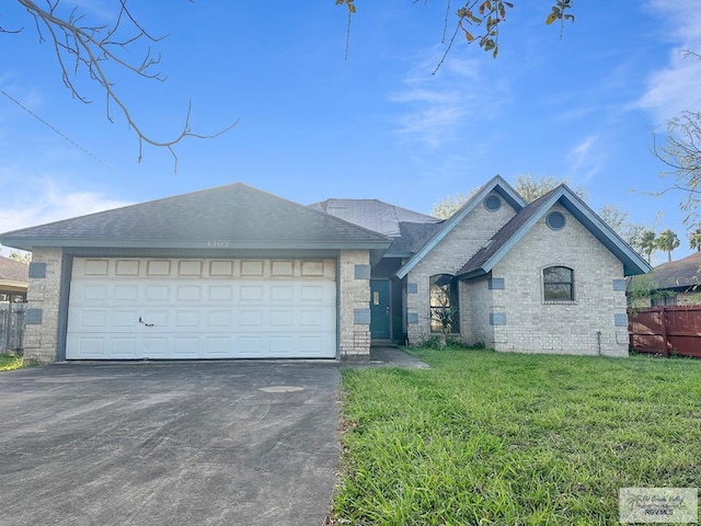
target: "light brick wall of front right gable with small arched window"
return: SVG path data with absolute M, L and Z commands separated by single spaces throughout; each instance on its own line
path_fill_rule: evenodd
M 543 218 L 494 267 L 505 288 L 491 290 L 492 308 L 506 323 L 493 327 L 485 343 L 499 351 L 627 356 L 625 291 L 613 285 L 623 279 L 622 263 L 566 210 L 554 209 L 565 215 L 564 229 L 551 230 Z M 543 300 L 542 270 L 552 265 L 574 270 L 575 301 Z

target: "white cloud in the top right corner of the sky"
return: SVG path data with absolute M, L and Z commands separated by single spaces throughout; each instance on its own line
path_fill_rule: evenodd
M 648 79 L 639 105 L 653 115 L 656 125 L 664 126 L 686 110 L 701 110 L 701 60 L 683 53 L 701 53 L 701 10 L 688 0 L 652 0 L 648 5 L 669 26 L 665 35 L 673 39 L 674 48 L 667 66 Z

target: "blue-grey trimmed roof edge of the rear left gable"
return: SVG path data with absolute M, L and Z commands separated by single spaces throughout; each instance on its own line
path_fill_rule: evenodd
M 450 231 L 462 221 L 462 219 L 470 214 L 478 204 L 490 195 L 492 192 L 499 194 L 512 207 L 517 211 L 526 206 L 524 198 L 516 193 L 512 186 L 502 179 L 501 175 L 496 175 L 485 185 L 480 187 L 462 207 L 456 211 L 449 219 L 443 224 L 437 232 L 435 232 L 430 239 L 428 239 L 421 250 L 416 253 L 397 272 L 399 278 L 405 277 L 411 270 L 416 266 Z

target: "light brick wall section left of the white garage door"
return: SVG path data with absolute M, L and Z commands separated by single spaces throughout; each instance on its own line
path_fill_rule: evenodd
M 41 323 L 28 323 L 24 332 L 24 356 L 43 363 L 56 362 L 58 343 L 58 305 L 61 285 L 61 249 L 36 248 L 32 251 L 34 265 L 46 265 L 46 277 L 30 277 L 27 302 L 36 309 Z

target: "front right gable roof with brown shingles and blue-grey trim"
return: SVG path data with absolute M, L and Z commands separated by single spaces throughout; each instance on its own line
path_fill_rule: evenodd
M 644 274 L 650 271 L 650 265 L 637 252 L 631 249 L 574 192 L 562 184 L 516 214 L 458 271 L 457 275 L 470 278 L 487 274 L 555 204 L 572 214 L 623 263 L 625 276 Z

